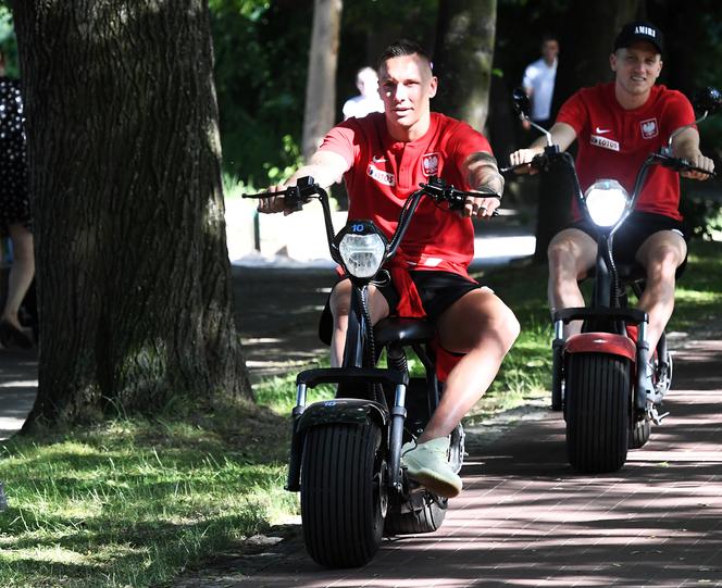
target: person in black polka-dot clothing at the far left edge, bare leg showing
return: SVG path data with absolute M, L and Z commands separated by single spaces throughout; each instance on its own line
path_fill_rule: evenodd
M 0 233 L 10 237 L 12 265 L 8 296 L 0 317 L 3 347 L 33 347 L 17 313 L 35 275 L 30 201 L 27 191 L 23 100 L 20 84 L 5 76 L 4 54 L 0 52 Z

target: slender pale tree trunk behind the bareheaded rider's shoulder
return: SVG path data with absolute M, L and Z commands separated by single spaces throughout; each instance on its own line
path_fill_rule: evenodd
M 336 64 L 341 0 L 314 0 L 313 32 L 303 112 L 303 158 L 315 152 L 336 121 Z

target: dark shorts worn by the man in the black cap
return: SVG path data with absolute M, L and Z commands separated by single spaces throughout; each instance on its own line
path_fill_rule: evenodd
M 578 228 L 583 230 L 593 239 L 597 239 L 597 230 L 590 221 L 577 221 L 572 223 L 568 228 Z M 670 218 L 663 214 L 655 214 L 651 212 L 633 212 L 624 224 L 614 233 L 614 240 L 612 246 L 612 253 L 617 263 L 634 265 L 637 263 L 635 259 L 637 251 L 651 235 L 660 230 L 673 230 L 684 238 L 685 242 L 689 240 L 689 236 L 685 233 L 682 221 Z M 682 274 L 684 267 L 687 265 L 687 257 L 677 267 L 677 276 Z

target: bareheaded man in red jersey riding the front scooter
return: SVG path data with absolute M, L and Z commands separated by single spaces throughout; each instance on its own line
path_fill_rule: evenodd
M 436 175 L 464 190 L 503 189 L 486 139 L 465 123 L 431 112 L 437 78 L 416 43 L 397 41 L 379 60 L 379 92 L 384 113 L 350 118 L 333 128 L 309 165 L 287 182 L 312 176 L 322 186 L 346 182 L 349 218 L 371 218 L 387 236 L 396 227 L 404 200 L 420 182 Z M 473 257 L 472 216 L 490 216 L 496 198 L 470 198 L 462 214 L 422 201 L 394 263 L 411 278 L 434 322 L 446 351 L 463 354 L 449 372 L 438 409 L 416 443 L 402 451 L 410 477 L 437 493 L 453 497 L 461 478 L 447 462 L 449 434 L 486 391 L 501 360 L 519 335 L 511 310 L 466 273 Z M 261 212 L 281 212 L 283 199 L 267 199 Z M 408 284 L 408 283 L 407 283 Z M 406 287 L 369 287 L 371 320 L 397 311 Z M 332 365 L 343 358 L 350 283 L 332 291 Z

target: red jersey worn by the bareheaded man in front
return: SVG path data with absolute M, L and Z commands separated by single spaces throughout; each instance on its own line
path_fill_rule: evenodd
M 386 130 L 383 113 L 349 118 L 331 129 L 322 150 L 341 155 L 350 168 L 344 174 L 349 193 L 349 220 L 373 221 L 387 237 L 419 184 L 438 176 L 462 190 L 472 189 L 462 164 L 472 153 L 491 152 L 488 141 L 466 123 L 432 112 L 423 137 L 396 141 Z M 422 199 L 400 247 L 409 270 L 444 270 L 465 275 L 474 255 L 471 218 Z

